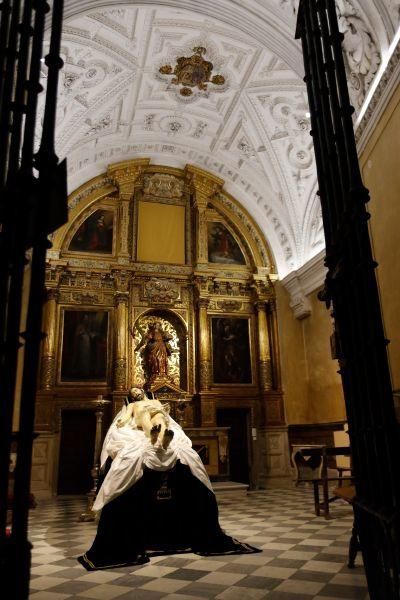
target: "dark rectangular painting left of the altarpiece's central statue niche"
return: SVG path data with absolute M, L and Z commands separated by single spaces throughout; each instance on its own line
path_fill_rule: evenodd
M 63 327 L 61 381 L 104 381 L 108 312 L 66 310 Z

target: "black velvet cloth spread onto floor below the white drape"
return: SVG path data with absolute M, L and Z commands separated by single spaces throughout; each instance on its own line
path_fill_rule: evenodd
M 149 553 L 203 556 L 260 552 L 226 535 L 214 494 L 179 461 L 143 477 L 106 504 L 92 547 L 79 562 L 89 571 L 149 561 Z

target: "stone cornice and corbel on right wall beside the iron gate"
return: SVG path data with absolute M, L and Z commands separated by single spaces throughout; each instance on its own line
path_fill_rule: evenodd
M 282 284 L 289 292 L 289 306 L 296 319 L 305 319 L 311 315 L 311 302 L 308 296 L 324 283 L 327 271 L 324 259 L 325 249 L 300 269 L 292 271 L 282 279 Z

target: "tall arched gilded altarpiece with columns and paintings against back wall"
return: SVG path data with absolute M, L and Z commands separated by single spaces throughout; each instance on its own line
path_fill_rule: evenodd
M 224 182 L 135 159 L 81 186 L 69 207 L 48 252 L 36 427 L 49 447 L 63 410 L 93 410 L 104 431 L 138 384 L 171 402 L 210 475 L 230 476 L 219 414 L 239 408 L 249 415 L 250 485 L 286 476 L 275 269 Z M 153 331 L 167 349 L 162 376 L 146 362 Z

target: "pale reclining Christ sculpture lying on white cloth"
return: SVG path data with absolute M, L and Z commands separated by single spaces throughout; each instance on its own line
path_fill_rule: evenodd
M 169 429 L 169 405 L 147 398 L 144 390 L 137 387 L 129 390 L 128 403 L 125 414 L 117 421 L 117 427 L 123 427 L 133 415 L 136 426 L 150 438 L 153 446 L 160 442 L 166 450 L 174 437 L 174 432 Z

